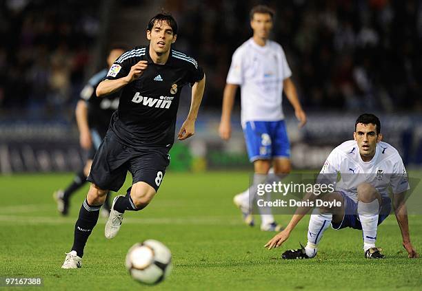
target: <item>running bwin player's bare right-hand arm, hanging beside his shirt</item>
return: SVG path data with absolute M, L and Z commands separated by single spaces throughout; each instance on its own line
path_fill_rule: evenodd
M 190 138 L 195 134 L 195 121 L 197 121 L 199 105 L 201 105 L 201 100 L 203 96 L 203 90 L 205 89 L 205 75 L 203 75 L 202 80 L 197 83 L 194 83 L 192 86 L 192 99 L 190 100 L 190 110 L 188 117 L 181 126 L 177 138 L 179 140 L 185 140 Z

